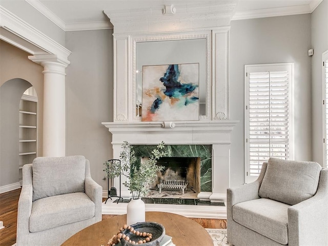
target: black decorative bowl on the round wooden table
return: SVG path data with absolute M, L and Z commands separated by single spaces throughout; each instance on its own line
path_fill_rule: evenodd
M 163 240 L 163 237 L 165 236 L 165 228 L 156 222 L 139 222 L 132 224 L 131 227 L 134 228 L 134 230 L 139 232 L 147 232 L 152 234 L 152 239 L 150 242 L 142 243 L 140 245 L 142 246 L 159 246 L 160 242 Z M 144 240 L 144 237 L 136 236 L 130 230 L 126 229 L 122 232 L 123 234 L 130 237 L 132 241 L 138 242 L 139 240 Z M 135 244 L 128 242 L 124 239 L 121 239 L 122 246 L 134 246 Z

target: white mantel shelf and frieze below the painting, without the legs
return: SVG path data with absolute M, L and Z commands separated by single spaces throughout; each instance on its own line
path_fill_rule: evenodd
M 230 144 L 230 133 L 238 120 L 211 121 L 116 121 L 102 122 L 113 134 L 112 144 Z M 174 142 L 172 142 L 172 137 Z M 179 137 L 180 136 L 180 137 Z M 183 137 L 182 137 L 183 136 Z M 220 136 L 220 137 L 219 137 Z

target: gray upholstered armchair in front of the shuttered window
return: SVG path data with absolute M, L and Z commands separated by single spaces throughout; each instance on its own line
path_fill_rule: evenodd
M 328 245 L 328 169 L 270 158 L 258 179 L 227 192 L 235 246 Z

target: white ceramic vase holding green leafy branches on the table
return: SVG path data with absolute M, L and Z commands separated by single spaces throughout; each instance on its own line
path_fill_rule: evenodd
M 145 202 L 139 199 L 131 199 L 127 207 L 127 225 L 135 224 L 137 222 L 145 222 Z

